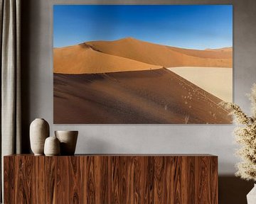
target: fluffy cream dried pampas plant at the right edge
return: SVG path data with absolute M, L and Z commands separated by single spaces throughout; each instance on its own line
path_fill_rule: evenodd
M 256 181 L 256 84 L 253 84 L 251 93 L 247 94 L 251 101 L 252 117 L 245 114 L 235 103 L 222 102 L 222 106 L 230 110 L 238 127 L 235 128 L 235 141 L 240 145 L 236 152 L 242 162 L 236 164 L 236 176 L 245 180 Z

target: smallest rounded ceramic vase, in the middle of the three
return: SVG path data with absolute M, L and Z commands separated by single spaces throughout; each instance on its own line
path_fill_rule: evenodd
M 60 155 L 60 141 L 58 138 L 54 136 L 46 138 L 43 152 L 46 156 Z

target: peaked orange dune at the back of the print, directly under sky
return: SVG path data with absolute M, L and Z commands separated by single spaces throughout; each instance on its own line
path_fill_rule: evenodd
M 164 67 L 233 67 L 232 50 L 187 50 L 134 38 L 86 43 L 99 52 Z

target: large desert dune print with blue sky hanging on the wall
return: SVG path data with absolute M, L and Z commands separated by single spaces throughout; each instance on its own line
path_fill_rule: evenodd
M 228 124 L 233 6 L 53 6 L 55 124 Z

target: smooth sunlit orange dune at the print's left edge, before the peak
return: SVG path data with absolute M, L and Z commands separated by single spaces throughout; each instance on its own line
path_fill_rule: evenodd
M 94 74 L 159 69 L 162 67 L 97 52 L 86 44 L 55 48 L 53 53 L 54 73 Z

